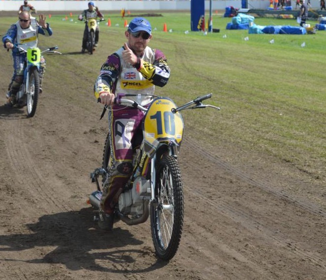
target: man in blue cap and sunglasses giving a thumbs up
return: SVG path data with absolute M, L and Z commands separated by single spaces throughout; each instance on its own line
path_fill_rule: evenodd
M 94 94 L 102 104 L 110 105 L 109 135 L 112 164 L 104 183 L 100 201 L 98 225 L 111 230 L 113 208 L 119 197 L 119 189 L 124 186 L 132 172 L 133 149 L 142 137 L 144 112 L 137 108 L 114 104 L 117 93 L 144 94 L 135 99 L 147 106 L 155 86 L 163 87 L 170 77 L 170 68 L 165 55 L 158 49 L 148 47 L 151 26 L 144 18 L 134 18 L 127 31 L 127 43 L 110 55 L 102 65 L 100 75 L 94 85 Z

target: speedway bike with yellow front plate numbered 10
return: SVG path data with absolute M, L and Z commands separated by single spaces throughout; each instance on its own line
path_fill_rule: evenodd
M 127 225 L 143 223 L 150 217 L 151 237 L 156 256 L 170 260 L 178 250 L 183 226 L 183 185 L 178 165 L 178 151 L 183 135 L 183 119 L 179 111 L 212 107 L 202 101 L 211 97 L 211 93 L 197 97 L 177 107 L 167 97 L 152 95 L 149 106 L 143 107 L 118 94 L 116 104 L 132 106 L 145 112 L 143 119 L 143 140 L 140 148 L 134 151 L 133 172 L 128 183 L 119 190 L 119 202 L 114 208 L 112 223 L 119 220 Z M 107 135 L 101 168 L 91 174 L 91 182 L 97 190 L 89 195 L 88 203 L 98 220 L 102 187 L 106 184 L 111 166 L 110 136 Z M 113 224 L 112 224 L 113 226 Z

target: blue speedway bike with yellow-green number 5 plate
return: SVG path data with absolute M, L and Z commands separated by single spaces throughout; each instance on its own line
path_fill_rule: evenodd
M 55 50 L 58 46 L 47 48 L 42 51 L 37 48 L 28 48 L 25 50 L 20 45 L 15 44 L 14 48 L 19 49 L 20 52 L 26 53 L 26 67 L 24 69 L 24 80 L 16 96 L 13 96 L 10 101 L 11 106 L 17 108 L 27 107 L 27 117 L 31 118 L 35 115 L 38 96 L 40 93 L 40 79 L 43 78 L 45 59 L 43 55 L 45 53 L 61 54 Z

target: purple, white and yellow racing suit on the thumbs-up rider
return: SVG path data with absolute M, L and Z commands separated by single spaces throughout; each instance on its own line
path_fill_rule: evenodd
M 139 94 L 123 98 L 135 100 L 143 106 L 150 103 L 155 86 L 163 87 L 170 77 L 165 55 L 146 47 L 138 63 L 132 66 L 122 59 L 120 48 L 102 65 L 94 85 L 96 98 L 102 91 Z M 142 95 L 140 95 L 142 94 Z M 109 110 L 109 138 L 111 166 L 104 183 L 100 201 L 102 210 L 111 214 L 119 199 L 119 190 L 128 182 L 132 172 L 133 149 L 141 143 L 144 112 L 137 108 L 114 105 Z

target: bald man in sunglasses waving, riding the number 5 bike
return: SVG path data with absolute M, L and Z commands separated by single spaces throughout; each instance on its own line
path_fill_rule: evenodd
M 34 18 L 30 18 L 29 11 L 22 11 L 19 14 L 19 20 L 10 26 L 7 33 L 2 37 L 4 47 L 12 49 L 12 57 L 14 61 L 14 74 L 11 79 L 9 92 L 6 94 L 8 103 L 12 99 L 12 95 L 16 95 L 20 89 L 24 79 L 24 69 L 26 61 L 26 53 L 21 53 L 19 49 L 14 48 L 14 44 L 21 44 L 20 47 L 27 50 L 37 46 L 37 36 L 42 34 L 45 36 L 52 35 L 52 29 L 50 25 L 45 22 L 45 16 L 39 15 L 39 21 L 37 22 Z M 44 63 L 45 64 L 45 63 Z M 43 80 L 45 69 L 40 69 L 42 77 L 40 77 L 40 91 L 41 81 Z

